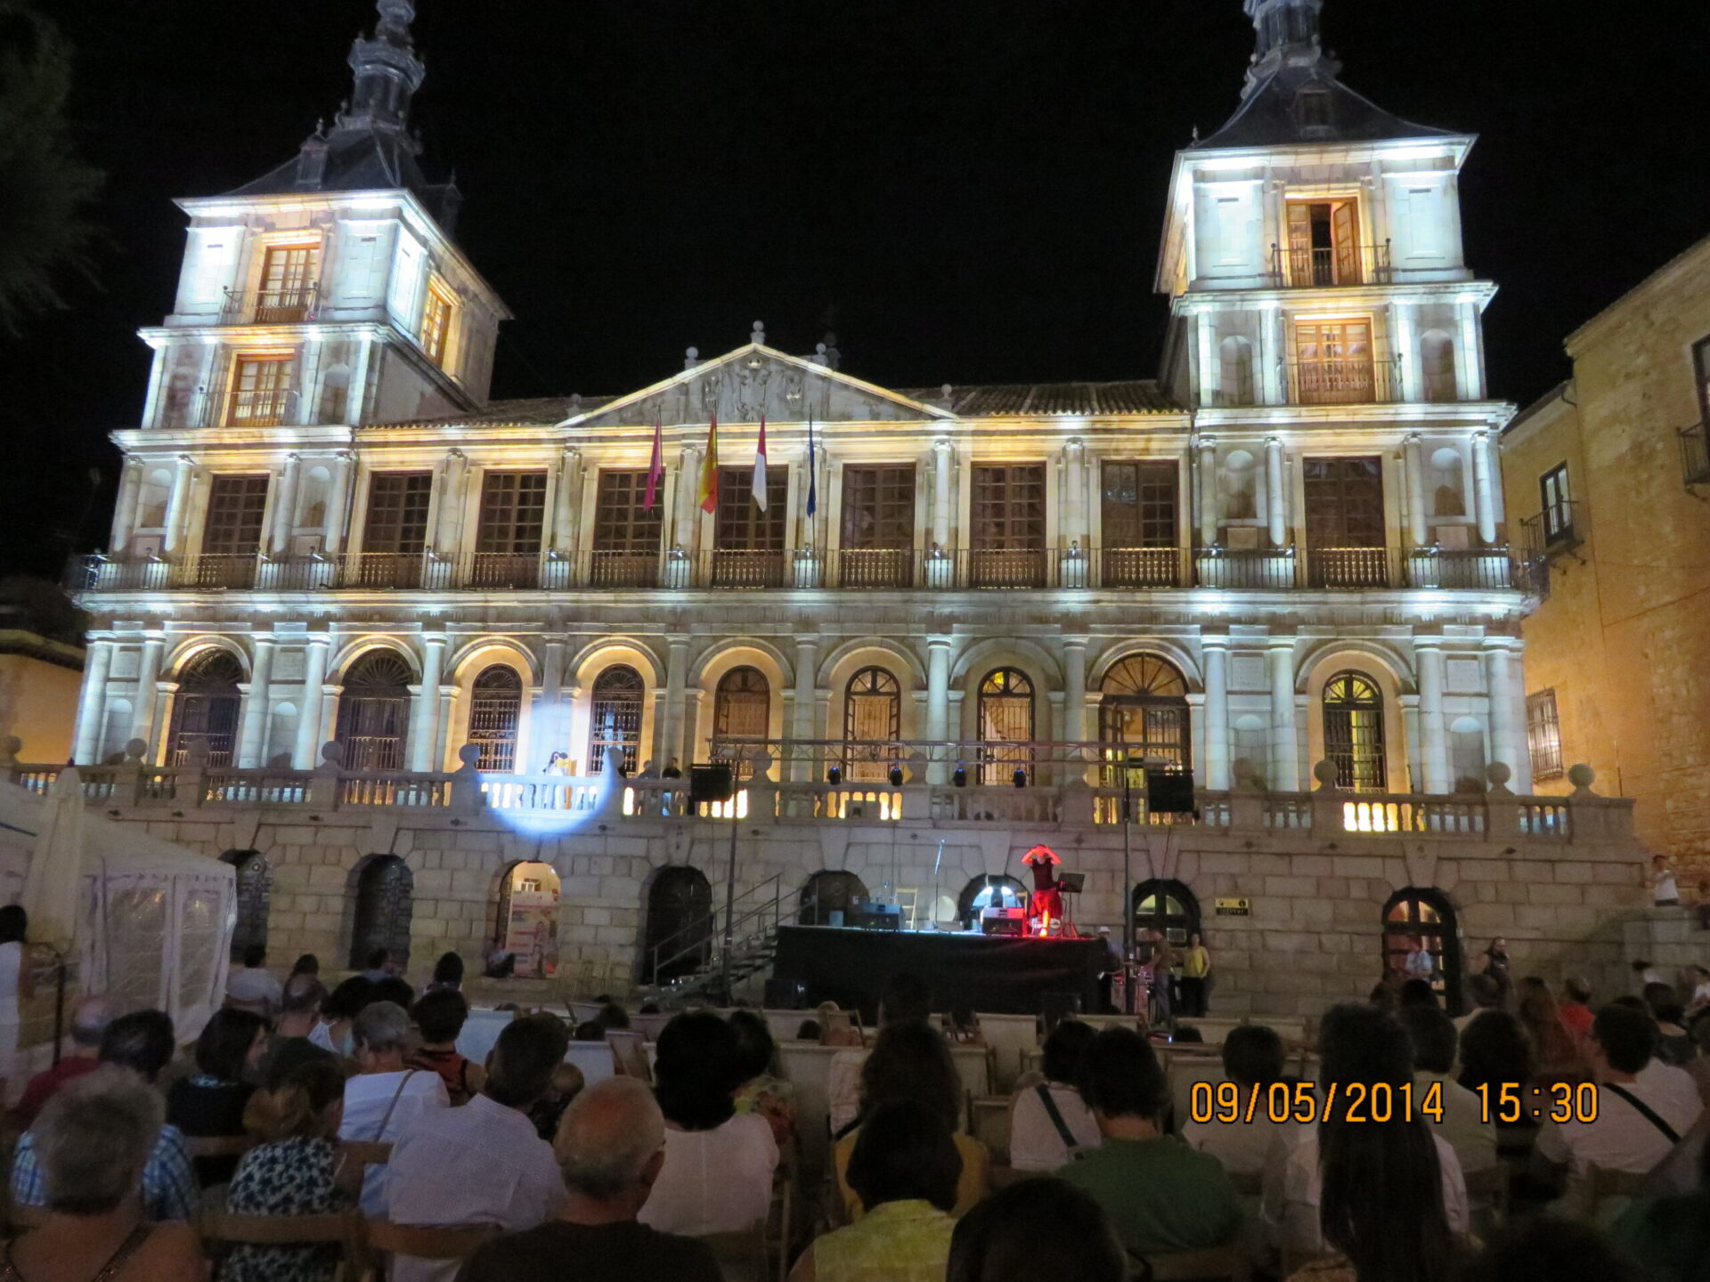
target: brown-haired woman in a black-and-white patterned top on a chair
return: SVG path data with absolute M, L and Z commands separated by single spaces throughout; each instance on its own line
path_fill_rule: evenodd
M 325 1215 L 356 1202 L 339 1169 L 344 1073 L 325 1055 L 292 1065 L 272 1091 L 265 1142 L 238 1162 L 226 1208 L 238 1215 Z M 325 1246 L 231 1248 L 222 1282 L 332 1282 L 342 1250 Z

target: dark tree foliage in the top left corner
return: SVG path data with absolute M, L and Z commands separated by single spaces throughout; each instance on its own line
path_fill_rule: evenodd
M 0 0 L 0 326 L 63 308 L 60 282 L 89 275 L 87 210 L 103 174 L 72 145 L 70 44 L 24 0 Z

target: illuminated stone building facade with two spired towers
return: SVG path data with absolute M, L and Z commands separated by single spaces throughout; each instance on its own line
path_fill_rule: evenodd
M 1171 928 L 1204 911 L 1224 1009 L 1363 991 L 1412 926 L 1445 961 L 1457 930 L 1583 957 L 1638 855 L 1621 803 L 1524 800 L 1474 140 L 1342 85 L 1320 5 L 1247 0 L 1241 106 L 1176 157 L 1158 381 L 896 390 L 756 325 L 628 395 L 489 402 L 504 306 L 416 166 L 410 5 L 381 0 L 332 132 L 181 202 L 80 579 L 77 759 L 135 744 L 91 786 L 262 851 L 234 858 L 274 938 L 340 961 L 475 956 L 510 868 L 552 863 L 559 973 L 622 983 L 725 877 L 730 824 L 643 778 L 670 759 L 771 757 L 746 904 L 817 911 L 852 873 L 954 916 L 1047 839 L 1093 925 L 1122 918 L 1108 761 L 1144 757 L 1194 773 L 1200 822 L 1142 827 L 1135 880 Z M 1212 923 L 1218 896 L 1250 914 Z

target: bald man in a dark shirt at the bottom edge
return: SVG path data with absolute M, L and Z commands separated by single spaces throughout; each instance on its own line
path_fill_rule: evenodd
M 705 1243 L 638 1222 L 665 1164 L 665 1118 L 633 1077 L 597 1082 L 564 1113 L 554 1152 L 564 1208 L 482 1246 L 460 1282 L 722 1282 Z

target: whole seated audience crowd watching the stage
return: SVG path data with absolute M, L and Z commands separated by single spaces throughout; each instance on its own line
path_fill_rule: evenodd
M 1397 976 L 1310 1044 L 1064 1019 L 994 1132 L 954 1058 L 987 1031 L 911 974 L 870 1044 L 834 1007 L 797 1029 L 826 1056 L 809 1116 L 752 1010 L 515 1012 L 475 1061 L 455 954 L 417 997 L 385 952 L 328 991 L 313 957 L 279 981 L 251 949 L 195 1031 L 75 1005 L 7 1113 L 0 1279 L 333 1282 L 361 1234 L 217 1232 L 328 1215 L 397 1226 L 390 1282 L 1707 1277 L 1710 978 L 1599 1005 L 1488 956 L 1465 1015 L 1443 976 Z M 1188 1080 L 1243 1104 L 1183 1111 Z M 451 1255 L 409 1238 L 460 1227 Z

